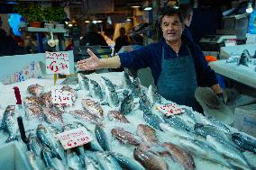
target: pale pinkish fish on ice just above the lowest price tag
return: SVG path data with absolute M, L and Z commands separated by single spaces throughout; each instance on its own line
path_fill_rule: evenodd
M 94 115 L 90 112 L 87 112 L 87 111 L 75 110 L 75 111 L 70 111 L 69 114 L 71 114 L 72 116 L 74 116 L 78 120 L 83 119 L 83 120 L 86 120 L 86 121 L 91 122 L 93 124 L 101 124 L 101 121 L 103 121 L 102 118 L 100 119 L 96 115 Z

